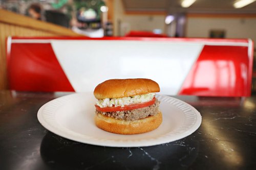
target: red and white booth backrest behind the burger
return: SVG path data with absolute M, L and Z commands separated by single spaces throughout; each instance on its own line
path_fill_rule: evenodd
M 148 78 L 162 94 L 249 96 L 250 39 L 9 38 L 13 90 L 93 91 L 107 79 Z

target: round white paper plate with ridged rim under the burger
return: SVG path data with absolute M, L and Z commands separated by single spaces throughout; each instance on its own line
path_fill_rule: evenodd
M 195 132 L 202 121 L 200 113 L 178 99 L 156 95 L 161 101 L 163 123 L 154 131 L 137 135 L 119 135 L 94 124 L 93 93 L 62 96 L 42 106 L 37 118 L 49 131 L 82 143 L 108 147 L 146 147 L 184 138 Z

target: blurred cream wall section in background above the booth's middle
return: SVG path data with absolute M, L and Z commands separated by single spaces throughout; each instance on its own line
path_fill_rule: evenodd
M 165 15 L 151 14 L 126 14 L 122 1 L 114 1 L 114 35 L 124 36 L 131 30 L 153 31 L 161 29 L 165 33 Z M 121 21 L 120 35 L 118 35 L 118 20 Z

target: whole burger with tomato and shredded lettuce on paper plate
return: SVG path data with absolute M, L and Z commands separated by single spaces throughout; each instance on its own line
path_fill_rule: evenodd
M 111 79 L 94 89 L 95 124 L 117 134 L 139 134 L 157 129 L 162 123 L 159 85 L 150 79 Z

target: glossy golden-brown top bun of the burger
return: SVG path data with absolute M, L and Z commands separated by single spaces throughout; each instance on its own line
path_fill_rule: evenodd
M 159 85 L 150 79 L 111 79 L 97 85 L 94 96 L 96 99 L 124 98 L 159 91 Z

